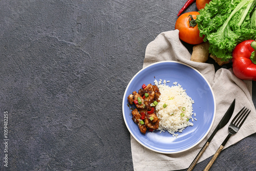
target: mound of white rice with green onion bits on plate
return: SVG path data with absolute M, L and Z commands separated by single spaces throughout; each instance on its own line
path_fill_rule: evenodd
M 177 82 L 174 84 L 176 85 Z M 194 114 L 192 106 L 194 100 L 186 94 L 180 84 L 172 87 L 158 84 L 157 87 L 161 93 L 160 102 L 156 105 L 156 114 L 159 118 L 158 130 L 161 130 L 160 133 L 168 131 L 177 137 L 177 132 L 181 133 L 185 127 L 194 125 L 189 122 L 189 119 L 194 121 L 191 117 Z M 164 103 L 167 104 L 166 108 L 163 108 Z

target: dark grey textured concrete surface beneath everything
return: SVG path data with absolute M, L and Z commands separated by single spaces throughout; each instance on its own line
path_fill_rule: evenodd
M 185 2 L 1 1 L 0 170 L 133 170 L 123 93 Z M 225 149 L 211 170 L 255 170 L 255 140 Z

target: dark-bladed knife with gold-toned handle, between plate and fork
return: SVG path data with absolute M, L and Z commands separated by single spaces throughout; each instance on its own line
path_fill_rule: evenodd
M 195 167 L 195 165 L 197 164 L 199 158 L 202 156 L 202 154 L 204 153 L 205 149 L 209 145 L 209 143 L 212 140 L 212 138 L 214 138 L 214 136 L 217 133 L 217 131 L 219 131 L 223 126 L 225 126 L 227 124 L 227 122 L 229 121 L 229 119 L 231 118 L 231 116 L 232 116 L 232 114 L 234 112 L 234 105 L 235 105 L 235 103 L 236 103 L 236 99 L 233 100 L 233 102 L 229 106 L 227 112 L 225 113 L 225 115 L 221 119 L 220 123 L 217 125 L 216 129 L 214 130 L 214 132 L 211 134 L 209 139 L 206 141 L 206 143 L 202 147 L 201 151 L 198 153 L 197 157 L 190 164 L 190 166 L 188 167 L 187 171 L 191 171 Z

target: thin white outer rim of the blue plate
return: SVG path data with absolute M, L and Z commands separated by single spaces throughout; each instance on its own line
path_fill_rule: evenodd
M 201 137 L 201 139 L 199 139 L 198 142 L 196 142 L 195 144 L 185 148 L 185 149 L 182 149 L 180 151 L 175 151 L 175 152 L 169 152 L 169 151 L 158 151 L 157 149 L 154 149 L 154 148 L 151 148 L 150 146 L 147 146 L 145 144 L 143 144 L 143 142 L 141 142 L 141 140 L 139 140 L 134 134 L 133 132 L 131 131 L 130 127 L 127 125 L 127 121 L 125 119 L 125 114 L 124 114 L 124 103 L 125 103 L 125 95 L 127 93 L 127 89 L 129 88 L 130 84 L 132 83 L 132 81 L 135 79 L 135 77 L 137 75 L 139 75 L 139 73 L 141 73 L 143 70 L 145 70 L 146 68 L 149 68 L 149 67 L 152 67 L 154 65 L 158 65 L 159 63 L 180 63 L 181 65 L 184 65 L 184 66 L 187 66 L 191 69 L 193 69 L 194 71 L 196 71 L 199 75 L 201 75 L 203 77 L 203 79 L 206 81 L 207 85 L 209 86 L 209 89 L 211 91 L 211 94 L 212 94 L 212 98 L 213 98 L 213 101 L 214 101 L 214 116 L 212 117 L 212 121 L 211 121 L 211 124 L 209 126 L 209 129 L 207 130 L 207 132 L 205 133 L 204 136 Z M 154 152 L 158 152 L 158 153 L 162 153 L 162 154 L 177 154 L 177 153 L 182 153 L 182 152 L 185 152 L 185 151 L 188 151 L 188 149 L 191 149 L 193 147 L 195 147 L 196 145 L 198 145 L 200 142 L 202 142 L 202 140 L 209 134 L 211 128 L 212 128 L 212 125 L 214 124 L 214 121 L 215 121 L 215 117 L 216 117 L 216 99 L 215 99 L 215 94 L 214 94 L 214 91 L 212 90 L 211 86 L 210 86 L 210 83 L 208 82 L 208 80 L 205 78 L 205 76 L 200 72 L 198 71 L 196 68 L 188 65 L 187 63 L 184 63 L 184 62 L 180 62 L 180 61 L 173 61 L 173 60 L 164 60 L 164 61 L 158 61 L 158 62 L 154 62 L 154 63 L 151 63 L 150 65 L 142 68 L 140 71 L 138 71 L 134 76 L 133 78 L 129 81 L 129 83 L 127 84 L 126 86 L 126 89 L 124 91 L 124 95 L 123 95 L 123 100 L 122 100 L 122 113 L 123 113 L 123 120 L 125 122 L 125 125 L 127 127 L 127 129 L 129 130 L 130 134 L 133 136 L 133 138 L 139 142 L 142 146 L 150 149 L 151 151 L 154 151 Z

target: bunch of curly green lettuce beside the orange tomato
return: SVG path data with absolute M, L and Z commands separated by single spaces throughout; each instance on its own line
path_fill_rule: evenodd
M 212 0 L 197 16 L 200 36 L 209 41 L 209 52 L 228 61 L 239 42 L 256 38 L 256 0 Z M 250 12 L 253 12 L 250 15 Z

